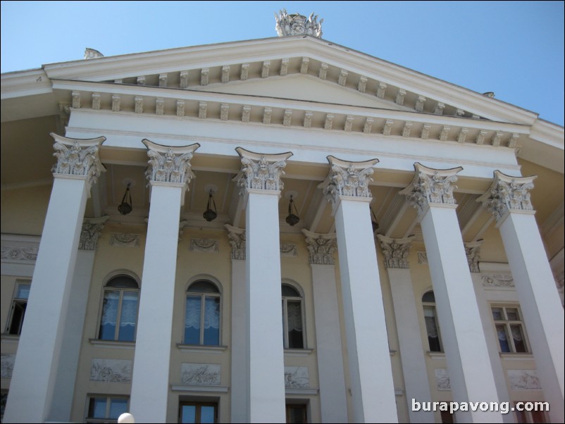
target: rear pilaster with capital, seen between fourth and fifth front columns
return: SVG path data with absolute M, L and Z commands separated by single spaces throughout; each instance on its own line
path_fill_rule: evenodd
M 377 237 L 383 249 L 383 256 L 385 256 L 385 268 L 387 268 L 392 304 L 395 308 L 400 361 L 404 374 L 404 390 L 410 422 L 433 423 L 435 419 L 433 411 L 412 411 L 411 408 L 412 399 L 419 402 L 432 400 L 428 368 L 426 358 L 424 358 L 425 349 L 422 346 L 414 287 L 408 263 L 413 237 L 406 239 L 390 239 L 383 235 Z

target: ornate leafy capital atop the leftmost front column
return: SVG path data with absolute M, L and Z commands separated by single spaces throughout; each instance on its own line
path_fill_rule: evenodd
M 74 139 L 56 135 L 54 132 L 51 132 L 51 137 L 55 140 L 53 156 L 57 158 L 57 163 L 52 169 L 53 175 L 84 178 L 90 196 L 90 187 L 97 181 L 100 173 L 105 171 L 98 157 L 98 151 L 106 137 Z

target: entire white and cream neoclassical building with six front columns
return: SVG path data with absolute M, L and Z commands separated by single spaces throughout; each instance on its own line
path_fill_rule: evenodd
M 277 25 L 1 75 L 4 422 L 562 423 L 563 127 Z

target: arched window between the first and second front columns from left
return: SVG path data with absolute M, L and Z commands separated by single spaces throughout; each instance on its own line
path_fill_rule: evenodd
M 139 285 L 129 275 L 117 275 L 106 283 L 98 338 L 135 341 Z

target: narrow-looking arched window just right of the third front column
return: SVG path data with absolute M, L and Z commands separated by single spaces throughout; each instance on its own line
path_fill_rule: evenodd
M 292 285 L 283 283 L 283 340 L 285 349 L 304 349 L 302 296 Z

